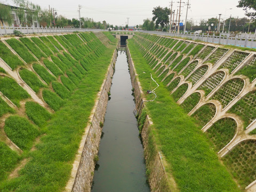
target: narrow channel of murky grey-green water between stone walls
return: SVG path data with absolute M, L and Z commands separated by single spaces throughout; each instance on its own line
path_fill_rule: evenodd
M 125 51 L 118 51 L 92 192 L 147 192 L 131 78 Z

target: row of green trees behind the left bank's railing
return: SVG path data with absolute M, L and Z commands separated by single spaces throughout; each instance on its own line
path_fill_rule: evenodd
M 49 10 L 42 10 L 39 5 L 35 5 L 28 0 L 12 0 L 17 7 L 1 4 L 0 2 L 0 25 L 8 23 L 12 25 L 14 11 L 19 19 L 19 23 L 14 25 L 21 25 L 29 27 L 34 25 L 37 21 L 39 26 L 55 26 L 55 27 L 76 27 L 80 26 L 78 19 L 67 19 L 62 15 L 56 15 Z M 96 22 L 91 18 L 81 18 L 81 24 L 83 28 L 114 28 L 113 25 L 109 25 L 106 21 Z M 117 27 L 117 26 L 116 26 Z

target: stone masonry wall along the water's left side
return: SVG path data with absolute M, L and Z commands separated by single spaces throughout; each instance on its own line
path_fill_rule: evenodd
M 98 93 L 96 103 L 90 116 L 90 122 L 87 125 L 81 145 L 78 149 L 71 178 L 65 191 L 87 192 L 91 191 L 94 166 L 94 157 L 98 154 L 102 127 L 100 122 L 104 122 L 104 117 L 108 103 L 108 91 L 111 87 L 111 80 L 114 74 L 114 67 L 117 58 L 117 50 L 113 54 L 105 82 Z

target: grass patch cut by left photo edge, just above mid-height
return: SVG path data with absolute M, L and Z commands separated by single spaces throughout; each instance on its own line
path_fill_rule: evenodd
M 20 106 L 21 100 L 30 98 L 30 95 L 9 77 L 0 77 L 0 91 L 17 107 Z

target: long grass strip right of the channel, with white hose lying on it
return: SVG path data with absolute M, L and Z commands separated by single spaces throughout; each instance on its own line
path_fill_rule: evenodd
M 129 39 L 129 49 L 143 92 L 146 92 L 151 69 L 133 39 Z M 157 79 L 155 75 L 153 78 Z M 195 119 L 187 116 L 175 103 L 162 83 L 156 94 L 156 102 L 146 103 L 148 114 L 154 122 L 151 131 L 171 167 L 166 171 L 174 176 L 180 191 L 239 191 L 230 173 L 218 161 L 213 145 L 196 126 Z

